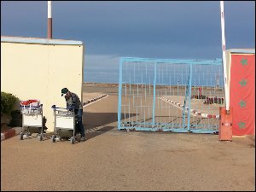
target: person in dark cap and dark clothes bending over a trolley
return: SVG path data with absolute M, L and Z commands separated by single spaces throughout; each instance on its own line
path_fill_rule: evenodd
M 81 141 L 85 140 L 84 125 L 83 125 L 83 107 L 80 102 L 79 96 L 67 88 L 61 90 L 61 96 L 64 96 L 67 102 L 67 109 L 74 109 L 75 115 L 78 117 L 78 132 L 81 133 Z

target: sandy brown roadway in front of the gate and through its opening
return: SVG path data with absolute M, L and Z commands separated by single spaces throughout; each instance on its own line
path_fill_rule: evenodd
M 255 137 L 117 130 L 117 87 L 84 108 L 84 143 L 1 142 L 1 190 L 255 190 Z

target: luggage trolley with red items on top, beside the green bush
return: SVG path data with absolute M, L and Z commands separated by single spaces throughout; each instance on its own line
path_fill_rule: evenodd
M 32 136 L 32 133 L 38 133 L 39 141 L 42 141 L 44 137 L 43 104 L 39 105 L 37 100 L 21 102 L 20 113 L 22 114 L 20 140 Z

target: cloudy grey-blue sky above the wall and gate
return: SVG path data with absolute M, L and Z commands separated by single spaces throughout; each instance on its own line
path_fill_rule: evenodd
M 255 48 L 255 2 L 224 2 L 224 14 L 226 49 Z M 84 81 L 122 56 L 222 57 L 219 1 L 53 1 L 52 18 L 53 38 L 84 42 Z M 46 38 L 47 1 L 1 1 L 1 35 Z

